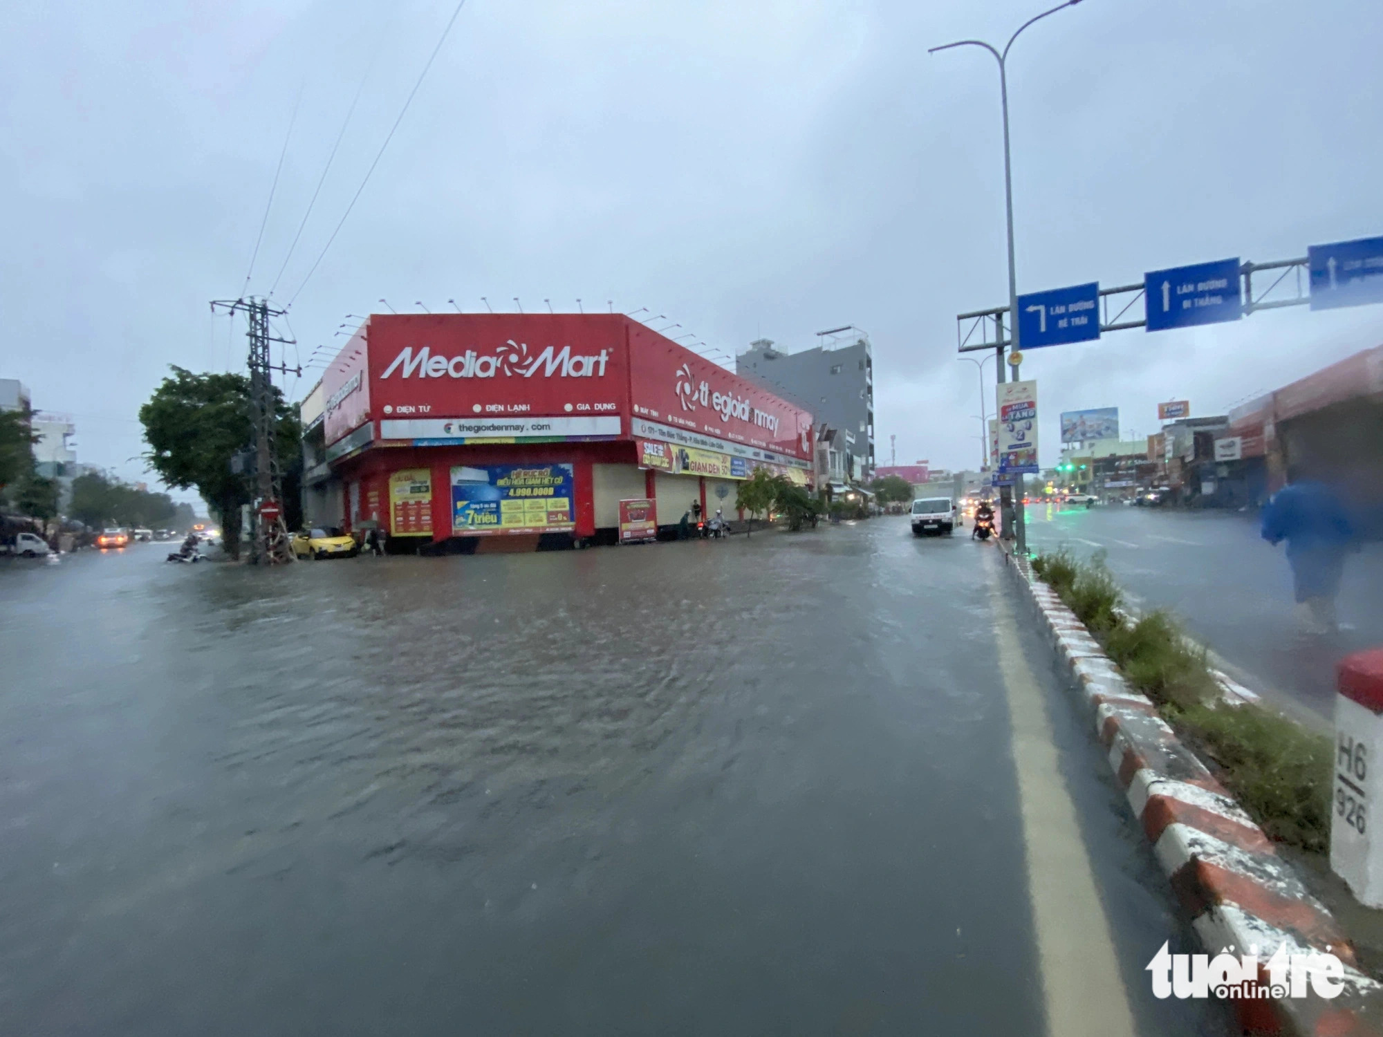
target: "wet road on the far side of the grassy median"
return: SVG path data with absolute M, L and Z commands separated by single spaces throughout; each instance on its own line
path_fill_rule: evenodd
M 1162 507 L 1029 507 L 1029 546 L 1106 553 L 1140 608 L 1170 608 L 1232 675 L 1279 707 L 1330 725 L 1335 666 L 1383 644 L 1383 543 L 1350 554 L 1340 586 L 1340 630 L 1304 635 L 1293 614 L 1283 546 L 1259 535 L 1256 514 Z

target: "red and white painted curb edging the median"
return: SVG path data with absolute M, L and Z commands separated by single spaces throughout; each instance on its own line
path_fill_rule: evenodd
M 1272 841 L 1212 777 L 1152 700 L 1119 668 L 1026 559 L 1004 553 L 1005 568 L 1036 604 L 1061 668 L 1095 715 L 1109 766 L 1158 863 L 1209 954 L 1329 951 L 1344 964 L 1344 989 L 1308 997 L 1235 1001 L 1245 1033 L 1364 1037 L 1383 1034 L 1383 984 L 1364 975 L 1330 913 L 1312 897 Z M 1247 691 L 1245 689 L 1245 691 Z M 1257 698 L 1247 693 L 1245 698 Z M 1265 966 L 1260 975 L 1267 982 Z

